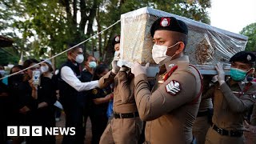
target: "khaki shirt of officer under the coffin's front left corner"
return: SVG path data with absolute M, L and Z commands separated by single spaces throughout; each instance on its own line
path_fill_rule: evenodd
M 129 75 L 122 71 L 119 71 L 114 76 L 110 71 L 99 80 L 99 88 L 106 87 L 112 82 L 114 82 L 114 112 L 137 112 L 138 110 L 134 100 L 134 78 L 129 78 Z

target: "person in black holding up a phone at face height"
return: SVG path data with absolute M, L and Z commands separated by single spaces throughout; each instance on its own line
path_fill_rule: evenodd
M 17 95 L 17 111 L 18 119 L 16 119 L 18 126 L 34 126 L 36 119 L 35 111 L 38 109 L 38 84 L 33 80 L 33 71 L 39 71 L 40 66 L 35 59 L 27 59 L 23 68 L 28 70 L 24 71 L 23 82 L 18 86 Z M 34 66 L 36 65 L 36 66 Z M 33 143 L 32 137 L 26 138 L 26 143 Z

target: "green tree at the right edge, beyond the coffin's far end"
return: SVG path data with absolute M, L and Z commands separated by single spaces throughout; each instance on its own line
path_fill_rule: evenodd
M 248 37 L 246 50 L 256 51 L 256 22 L 244 27 L 240 34 L 246 35 Z

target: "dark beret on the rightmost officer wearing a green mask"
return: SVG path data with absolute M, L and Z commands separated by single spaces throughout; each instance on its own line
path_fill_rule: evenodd
M 230 62 L 243 62 L 243 63 L 252 63 L 254 64 L 256 57 L 253 53 L 248 51 L 240 51 L 237 54 L 234 54 L 230 58 Z

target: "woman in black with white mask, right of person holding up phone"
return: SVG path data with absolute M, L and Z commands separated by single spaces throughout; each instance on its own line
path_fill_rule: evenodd
M 42 137 L 37 137 L 38 142 L 55 143 L 54 136 L 46 136 L 45 128 L 55 126 L 55 110 L 54 102 L 56 102 L 56 82 L 54 82 L 53 68 L 51 62 L 47 60 L 42 62 L 40 66 L 42 73 L 40 77 L 40 84 L 38 86 L 38 109 L 35 111 L 35 126 L 42 126 Z

